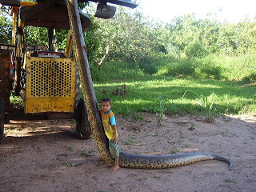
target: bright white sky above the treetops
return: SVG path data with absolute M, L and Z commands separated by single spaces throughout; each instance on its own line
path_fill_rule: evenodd
M 196 18 L 212 14 L 211 18 L 222 22 L 241 22 L 245 18 L 252 21 L 256 16 L 256 0 L 138 0 L 138 4 L 136 9 L 162 22 L 192 13 Z

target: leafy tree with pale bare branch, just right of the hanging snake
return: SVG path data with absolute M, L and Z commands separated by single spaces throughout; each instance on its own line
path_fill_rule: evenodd
M 158 41 L 158 26 L 152 26 L 139 12 L 130 14 L 125 8 L 119 8 L 114 18 L 95 18 L 98 27 L 91 35 L 95 39 L 92 41 L 94 45 L 90 44 L 93 50 L 98 48 L 94 52 L 97 55 L 94 63 L 102 58 L 108 46 L 110 54 L 107 61 L 134 62 L 134 66 L 140 65 L 147 70 L 145 66 L 152 64 L 159 54 L 165 52 L 161 41 Z M 153 68 L 148 70 L 149 74 L 152 74 Z

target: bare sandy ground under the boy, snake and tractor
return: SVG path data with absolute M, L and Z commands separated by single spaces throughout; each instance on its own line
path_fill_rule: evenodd
M 134 154 L 208 152 L 206 161 L 164 170 L 109 170 L 94 139 L 78 140 L 74 121 L 10 121 L 0 145 L 0 191 L 256 191 L 256 115 L 168 116 L 157 126 L 117 116 L 122 150 Z M 194 130 L 190 127 L 194 126 Z

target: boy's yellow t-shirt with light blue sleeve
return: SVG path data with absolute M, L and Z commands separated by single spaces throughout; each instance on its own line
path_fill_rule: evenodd
M 114 139 L 114 126 L 116 124 L 114 113 L 110 110 L 107 114 L 100 110 L 100 114 L 102 115 L 102 124 L 105 130 L 106 137 L 110 140 Z

